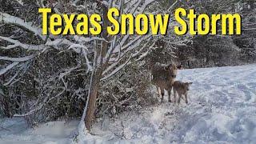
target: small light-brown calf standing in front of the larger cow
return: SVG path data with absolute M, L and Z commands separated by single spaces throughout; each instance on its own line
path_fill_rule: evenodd
M 187 101 L 187 93 L 190 90 L 190 85 L 193 82 L 180 82 L 180 81 L 175 81 L 173 84 L 174 88 L 174 102 L 176 102 L 176 94 L 178 93 L 178 103 L 181 102 L 182 94 L 185 95 L 185 101 Z

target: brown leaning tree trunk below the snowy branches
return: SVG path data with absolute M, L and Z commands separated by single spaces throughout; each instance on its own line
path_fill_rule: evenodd
M 90 84 L 90 94 L 89 101 L 86 109 L 86 118 L 84 119 L 86 124 L 86 130 L 90 130 L 90 126 L 92 125 L 92 121 L 94 119 L 94 111 L 96 106 L 96 99 L 98 95 L 99 82 L 101 78 L 102 72 L 101 70 L 96 70 L 92 75 L 91 84 Z

